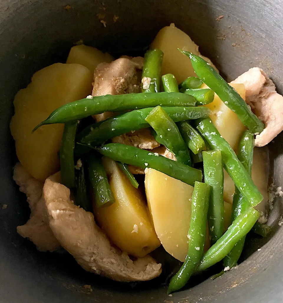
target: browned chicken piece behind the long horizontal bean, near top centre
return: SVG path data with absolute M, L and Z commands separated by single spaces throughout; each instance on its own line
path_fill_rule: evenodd
M 94 71 L 92 96 L 122 95 L 140 91 L 143 58 L 119 58 L 111 63 L 100 63 Z M 99 122 L 116 115 L 112 112 L 94 115 Z

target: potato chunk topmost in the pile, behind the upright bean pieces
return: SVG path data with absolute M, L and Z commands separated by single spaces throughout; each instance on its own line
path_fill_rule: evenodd
M 187 77 L 196 76 L 191 60 L 181 54 L 178 51 L 178 48 L 199 56 L 199 47 L 186 33 L 177 28 L 174 23 L 171 23 L 170 26 L 163 27 L 157 33 L 151 44 L 151 48 L 159 48 L 164 53 L 161 75 L 168 73 L 173 74 L 178 83 L 182 82 Z M 208 58 L 202 58 L 211 63 Z

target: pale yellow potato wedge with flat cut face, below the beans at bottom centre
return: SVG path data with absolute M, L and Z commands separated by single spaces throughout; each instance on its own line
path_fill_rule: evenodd
M 188 252 L 193 186 L 148 168 L 145 169 L 145 192 L 161 244 L 174 258 L 184 261 Z M 206 249 L 208 247 L 207 237 Z

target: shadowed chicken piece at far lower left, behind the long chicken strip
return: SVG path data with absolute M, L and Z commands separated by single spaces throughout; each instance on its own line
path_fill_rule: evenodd
M 45 201 L 42 197 L 43 183 L 33 178 L 26 169 L 17 163 L 13 179 L 19 185 L 20 191 L 26 194 L 31 210 L 30 218 L 25 225 L 18 226 L 18 233 L 29 238 L 39 251 L 55 251 L 60 247 L 48 223 Z

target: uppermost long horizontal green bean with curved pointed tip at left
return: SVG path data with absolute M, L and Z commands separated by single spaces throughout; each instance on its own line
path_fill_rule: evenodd
M 86 118 L 107 111 L 117 112 L 126 109 L 138 109 L 151 106 L 195 106 L 193 96 L 182 93 L 131 93 L 124 95 L 105 95 L 85 98 L 70 102 L 52 112 L 49 117 L 39 123 L 33 131 L 42 125 L 66 123 Z

